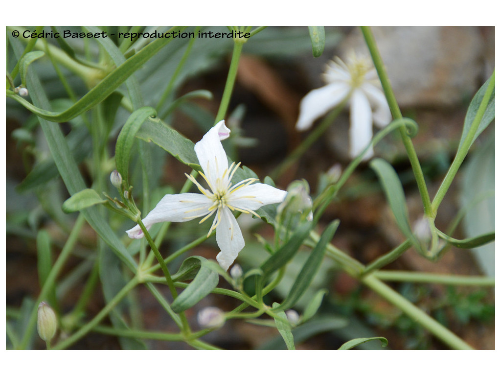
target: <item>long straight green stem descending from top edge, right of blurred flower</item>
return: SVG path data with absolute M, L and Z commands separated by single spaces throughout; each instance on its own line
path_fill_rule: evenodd
M 361 30 L 365 42 L 367 43 L 367 47 L 369 48 L 369 51 L 371 53 L 372 60 L 374 62 L 374 66 L 376 67 L 379 79 L 381 81 L 384 95 L 386 97 L 386 100 L 388 101 L 388 105 L 390 106 L 391 114 L 393 115 L 394 119 L 401 119 L 402 113 L 400 112 L 397 99 L 395 98 L 395 94 L 393 93 L 393 89 L 391 88 L 390 79 L 388 78 L 388 75 L 386 73 L 383 59 L 379 54 L 374 35 L 372 34 L 370 27 L 368 26 L 362 26 Z M 426 214 L 426 216 L 434 218 L 434 212 L 431 208 L 430 196 L 428 194 L 428 190 L 426 189 L 426 181 L 424 180 L 424 174 L 421 169 L 421 165 L 419 164 L 419 159 L 417 157 L 416 150 L 414 149 L 414 145 L 412 144 L 410 137 L 405 132 L 405 129 L 400 128 L 399 131 L 402 142 L 405 146 L 405 150 L 407 151 L 410 164 L 412 166 L 412 171 L 414 172 L 414 176 L 416 178 L 417 187 L 424 206 L 424 213 Z

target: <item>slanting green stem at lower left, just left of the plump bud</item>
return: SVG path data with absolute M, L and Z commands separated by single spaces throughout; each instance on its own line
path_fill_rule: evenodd
M 61 254 L 59 255 L 57 261 L 54 263 L 54 266 L 52 267 L 49 275 L 47 276 L 47 279 L 45 280 L 44 286 L 42 287 L 42 291 L 40 291 L 40 295 L 38 296 L 37 301 L 35 302 L 34 309 L 31 313 L 28 324 L 26 325 L 25 334 L 23 336 L 23 339 L 19 343 L 20 349 L 25 349 L 26 346 L 28 345 L 33 330 L 35 329 L 35 326 L 37 324 L 38 305 L 42 300 L 47 299 L 49 292 L 52 290 L 54 283 L 56 282 L 56 278 L 58 277 L 63 266 L 68 260 L 68 257 L 70 256 L 71 251 L 73 250 L 73 247 L 75 246 L 78 240 L 80 230 L 82 229 L 84 223 L 85 223 L 84 216 L 80 214 L 77 218 L 77 221 L 75 222 L 75 225 L 73 226 L 73 229 L 70 233 L 70 236 L 68 237 L 68 240 L 66 241 L 66 244 L 64 245 L 61 251 Z

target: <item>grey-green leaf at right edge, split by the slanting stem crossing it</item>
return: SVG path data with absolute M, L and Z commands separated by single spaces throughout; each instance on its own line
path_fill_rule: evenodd
M 494 79 L 494 77 L 487 80 L 476 92 L 475 96 L 470 102 L 468 107 L 468 111 L 466 112 L 466 116 L 464 118 L 464 126 L 463 132 L 461 134 L 461 140 L 459 141 L 459 147 L 461 148 L 462 144 L 465 141 L 466 135 L 473 124 L 473 120 L 475 119 L 477 112 L 480 108 L 480 103 L 482 103 L 483 97 L 486 95 L 487 88 L 489 86 L 490 80 Z M 471 143 L 468 145 L 468 149 L 473 144 L 473 141 L 482 133 L 482 131 L 494 120 L 495 117 L 495 89 L 492 89 L 492 93 L 490 94 L 489 101 L 487 103 L 487 107 L 485 108 L 485 112 L 482 115 L 482 119 L 480 120 L 480 124 L 475 132 Z

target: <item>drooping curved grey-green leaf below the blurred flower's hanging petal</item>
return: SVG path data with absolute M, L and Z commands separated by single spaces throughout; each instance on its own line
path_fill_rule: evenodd
M 420 249 L 421 246 L 415 239 L 410 228 L 404 190 L 397 173 L 391 164 L 381 158 L 374 158 L 371 160 L 370 166 L 378 175 L 379 183 L 383 187 L 383 192 L 388 200 L 390 209 L 395 216 L 398 228 L 402 231 L 406 238 L 412 241 L 414 247 Z

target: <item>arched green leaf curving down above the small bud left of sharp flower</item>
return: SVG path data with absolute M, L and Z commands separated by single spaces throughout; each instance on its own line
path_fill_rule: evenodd
M 141 107 L 130 114 L 117 138 L 115 146 L 115 164 L 124 181 L 129 183 L 130 151 L 137 131 L 150 116 L 155 116 L 153 107 Z

